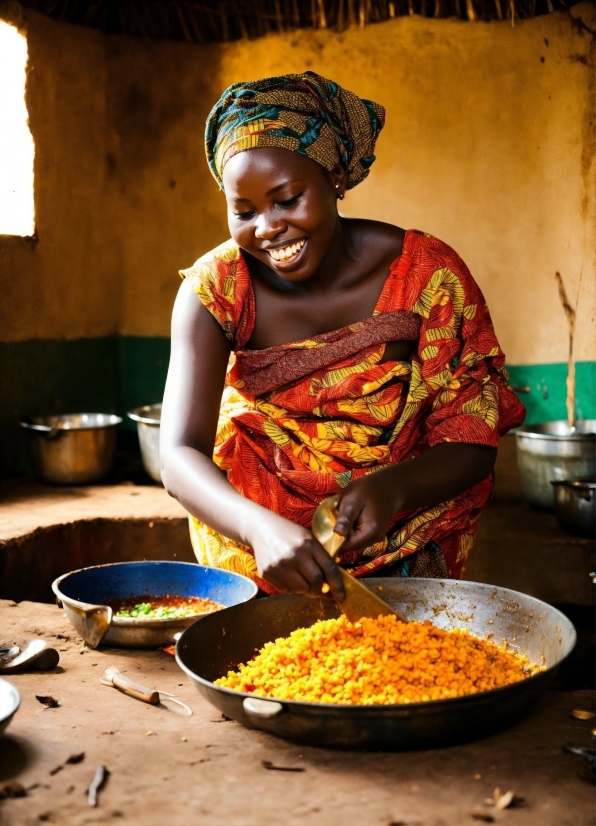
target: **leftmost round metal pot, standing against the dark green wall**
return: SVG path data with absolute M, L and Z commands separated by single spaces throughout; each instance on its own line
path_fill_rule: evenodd
M 23 417 L 29 460 L 43 482 L 85 485 L 107 476 L 114 466 L 120 416 L 111 413 L 67 413 Z

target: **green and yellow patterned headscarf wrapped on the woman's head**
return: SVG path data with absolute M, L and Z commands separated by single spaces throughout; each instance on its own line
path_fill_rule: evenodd
M 279 146 L 331 171 L 347 172 L 347 188 L 363 181 L 375 160 L 385 109 L 314 72 L 234 83 L 211 110 L 205 150 L 223 189 L 226 163 L 238 152 Z

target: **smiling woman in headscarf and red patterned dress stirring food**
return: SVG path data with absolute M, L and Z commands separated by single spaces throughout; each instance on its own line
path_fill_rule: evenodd
M 524 417 L 457 254 L 338 214 L 383 123 L 312 72 L 235 84 L 207 123 L 232 237 L 181 273 L 162 475 L 199 562 L 268 593 L 343 598 L 309 530 L 336 493 L 355 576 L 460 577 Z

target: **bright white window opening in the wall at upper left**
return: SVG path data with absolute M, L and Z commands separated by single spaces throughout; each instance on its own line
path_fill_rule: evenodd
M 0 20 L 0 235 L 35 232 L 26 70 L 26 37 Z

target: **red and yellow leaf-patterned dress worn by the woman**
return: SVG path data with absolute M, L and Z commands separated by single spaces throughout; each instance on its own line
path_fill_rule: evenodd
M 484 297 L 446 244 L 408 230 L 374 313 L 340 330 L 247 350 L 255 297 L 232 241 L 181 275 L 232 343 L 214 461 L 243 496 L 305 527 L 316 506 L 377 468 L 442 442 L 497 446 L 522 423 Z M 418 342 L 384 361 L 389 341 Z M 461 577 L 493 481 L 395 514 L 383 542 L 343 554 L 355 576 Z M 190 517 L 199 562 L 265 590 L 252 550 Z

